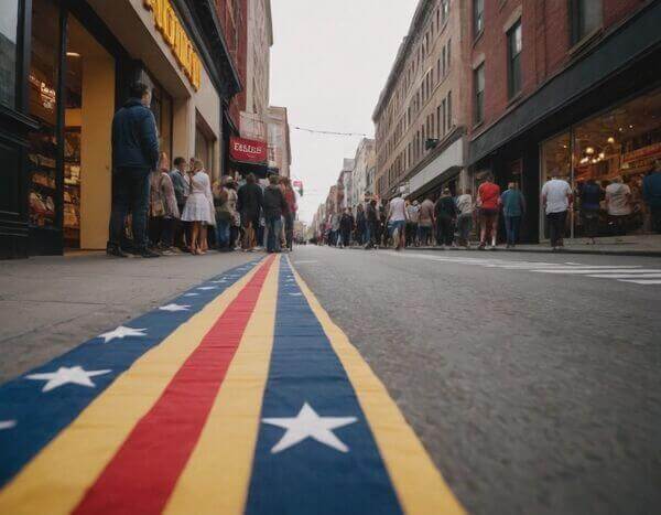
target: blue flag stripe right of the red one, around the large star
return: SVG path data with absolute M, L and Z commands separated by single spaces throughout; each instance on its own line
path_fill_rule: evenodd
M 401 514 L 354 387 L 291 278 L 291 268 L 282 260 L 273 351 L 246 513 Z M 345 451 L 334 448 L 333 441 L 326 444 L 313 438 L 278 450 L 288 433 L 278 419 L 295 418 L 305 404 L 322 420 L 356 418 L 332 430 Z

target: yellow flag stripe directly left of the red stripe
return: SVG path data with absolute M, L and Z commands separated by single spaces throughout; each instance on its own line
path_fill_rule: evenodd
M 0 513 L 74 509 L 188 355 L 263 266 L 254 267 L 119 376 L 0 491 Z

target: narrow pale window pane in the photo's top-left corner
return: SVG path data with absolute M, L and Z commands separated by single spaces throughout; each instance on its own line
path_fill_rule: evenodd
M 0 2 L 0 104 L 14 107 L 19 0 Z

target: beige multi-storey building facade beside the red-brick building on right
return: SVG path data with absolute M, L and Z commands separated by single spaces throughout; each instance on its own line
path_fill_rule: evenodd
M 459 0 L 418 3 L 372 116 L 380 197 L 418 199 L 467 182 L 466 9 Z

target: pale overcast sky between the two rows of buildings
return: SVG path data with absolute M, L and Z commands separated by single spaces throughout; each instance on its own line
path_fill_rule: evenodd
M 303 180 L 300 218 L 312 221 L 377 105 L 416 0 L 271 0 L 271 105 L 289 110 L 292 176 Z

